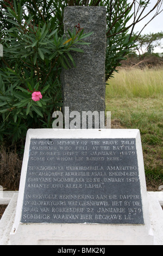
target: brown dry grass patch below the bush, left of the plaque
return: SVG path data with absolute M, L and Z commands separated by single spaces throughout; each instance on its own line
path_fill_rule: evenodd
M 22 161 L 13 152 L 0 150 L 0 185 L 6 190 L 18 190 Z

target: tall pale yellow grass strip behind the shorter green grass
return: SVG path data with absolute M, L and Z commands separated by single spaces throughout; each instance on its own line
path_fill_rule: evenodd
M 109 97 L 156 97 L 163 94 L 163 69 L 120 69 L 108 80 Z

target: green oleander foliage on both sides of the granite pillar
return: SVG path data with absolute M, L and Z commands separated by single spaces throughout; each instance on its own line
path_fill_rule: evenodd
M 71 51 L 80 54 L 79 44 L 86 44 L 83 39 L 89 36 L 74 29 L 64 38 L 67 5 L 105 6 L 108 80 L 134 47 L 136 23 L 151 13 L 152 19 L 159 15 L 162 1 L 0 0 L 0 139 L 14 142 L 24 138 L 29 127 L 52 127 L 52 113 L 62 103 L 61 68 L 75 66 Z M 151 10 L 145 13 L 149 4 Z M 38 90 L 43 97 L 34 102 L 31 96 Z

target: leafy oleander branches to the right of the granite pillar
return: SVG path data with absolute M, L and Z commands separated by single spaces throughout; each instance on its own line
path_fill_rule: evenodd
M 106 80 L 108 80 L 116 67 L 121 65 L 121 60 L 129 54 L 137 42 L 137 38 L 143 29 L 151 22 L 154 17 L 162 11 L 162 1 L 105 1 L 107 13 L 107 50 L 106 50 Z M 129 3 L 130 2 L 130 3 Z M 151 9 L 146 12 L 147 7 Z M 134 28 L 137 23 L 148 17 L 149 19 L 141 31 L 134 34 Z

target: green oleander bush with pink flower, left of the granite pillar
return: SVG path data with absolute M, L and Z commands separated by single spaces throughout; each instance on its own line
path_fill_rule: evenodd
M 80 25 L 63 36 L 51 2 L 42 14 L 40 1 L 1 1 L 0 140 L 10 145 L 22 146 L 29 128 L 52 127 L 52 114 L 62 106 L 61 68 L 75 66 L 71 52 L 88 45 L 83 39 L 90 33 Z

